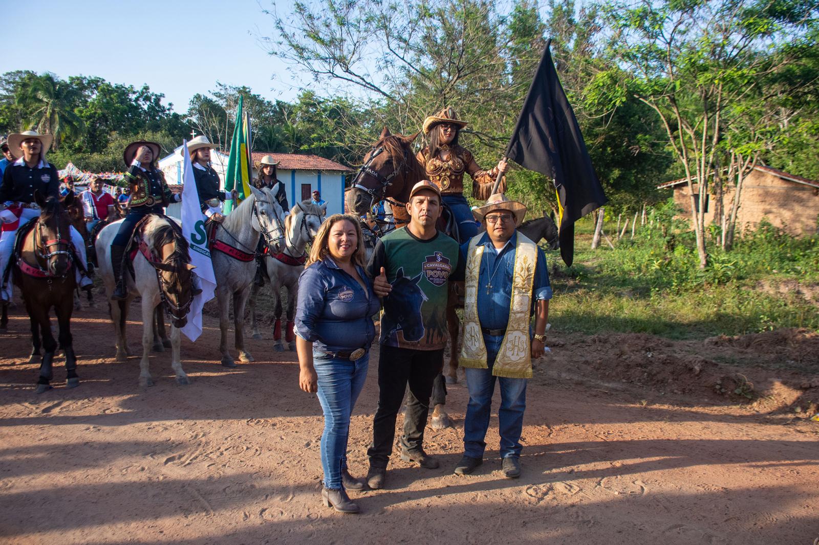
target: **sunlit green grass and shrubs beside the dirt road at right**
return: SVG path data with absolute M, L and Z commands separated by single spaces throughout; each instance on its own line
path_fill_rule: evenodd
M 554 299 L 550 321 L 563 331 L 645 332 L 671 339 L 743 335 L 779 327 L 819 328 L 817 305 L 796 291 L 760 286 L 819 282 L 819 238 L 795 238 L 769 223 L 745 232 L 730 252 L 710 232 L 708 268 L 699 268 L 694 234 L 671 205 L 612 250 L 590 249 L 593 225 L 578 223 L 575 262 L 548 253 Z M 660 227 L 660 226 L 664 226 Z M 611 227 L 609 227 L 611 229 Z M 613 231 L 613 229 L 611 229 Z M 609 234 L 609 236 L 613 236 Z

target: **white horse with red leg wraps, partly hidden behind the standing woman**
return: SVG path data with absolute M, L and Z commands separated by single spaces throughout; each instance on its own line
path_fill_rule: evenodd
M 299 275 L 304 270 L 305 246 L 312 242 L 319 233 L 319 227 L 327 214 L 326 205 L 319 206 L 311 200 L 302 200 L 290 209 L 290 215 L 284 220 L 284 227 L 287 231 L 285 236 L 285 249 L 282 252 L 284 263 L 273 256 L 265 258 L 267 265 L 267 277 L 270 282 L 270 290 L 276 300 L 274 315 L 274 349 L 282 351 L 282 286 L 287 287 L 287 330 L 285 340 L 291 350 L 296 349 L 296 339 L 293 336 L 293 319 L 296 316 L 296 298 L 299 291 Z M 301 263 L 299 263 L 301 261 Z M 256 293 L 259 286 L 254 284 L 251 295 L 251 318 L 253 327 L 253 338 L 261 339 L 259 326 L 256 322 Z

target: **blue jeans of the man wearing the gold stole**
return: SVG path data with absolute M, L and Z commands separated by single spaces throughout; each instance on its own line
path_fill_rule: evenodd
M 492 375 L 495 357 L 503 342 L 503 336 L 483 336 L 486 344 L 487 369 L 464 368 L 469 390 L 469 404 L 464 418 L 464 454 L 483 458 L 486 449 L 486 430 L 492 408 L 495 379 L 500 382 L 500 457 L 519 457 L 522 449 L 520 435 L 523 431 L 523 411 L 526 410 L 526 385 L 528 379 Z

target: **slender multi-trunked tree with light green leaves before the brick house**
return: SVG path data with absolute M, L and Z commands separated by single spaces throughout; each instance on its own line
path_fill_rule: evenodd
M 705 209 L 697 203 L 708 196 L 727 110 L 764 76 L 785 68 L 790 56 L 771 55 L 771 44 L 799 39 L 816 10 L 815 3 L 799 0 L 641 0 L 604 6 L 613 30 L 609 47 L 628 70 L 613 67 L 610 74 L 627 74 L 622 88 L 656 112 L 685 172 L 701 268 L 708 252 Z

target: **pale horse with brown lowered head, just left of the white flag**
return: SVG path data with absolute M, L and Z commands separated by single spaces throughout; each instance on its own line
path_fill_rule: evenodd
M 111 269 L 111 241 L 120 230 L 120 223 L 111 223 L 104 227 L 97 236 L 97 269 L 105 283 L 108 300 L 116 284 Z M 179 222 L 177 222 L 177 225 Z M 167 218 L 153 215 L 147 219 L 143 230 L 143 241 L 151 254 L 151 262 L 142 251 L 133 259 L 133 275 L 123 271 L 124 282 L 128 287 L 128 300 L 111 301 L 111 320 L 116 332 L 116 361 L 127 361 L 130 355 L 128 340 L 125 336 L 125 324 L 128 318 L 129 304 L 134 297 L 142 297 L 143 311 L 143 358 L 139 362 L 139 385 L 152 386 L 153 379 L 148 371 L 148 353 L 153 343 L 154 309 L 161 302 L 170 313 L 170 365 L 176 373 L 179 384 L 189 384 L 188 375 L 182 370 L 179 359 L 179 328 L 188 321 L 186 315 L 192 300 L 192 269 L 188 254 L 188 241 L 185 240 L 177 226 L 171 225 Z

